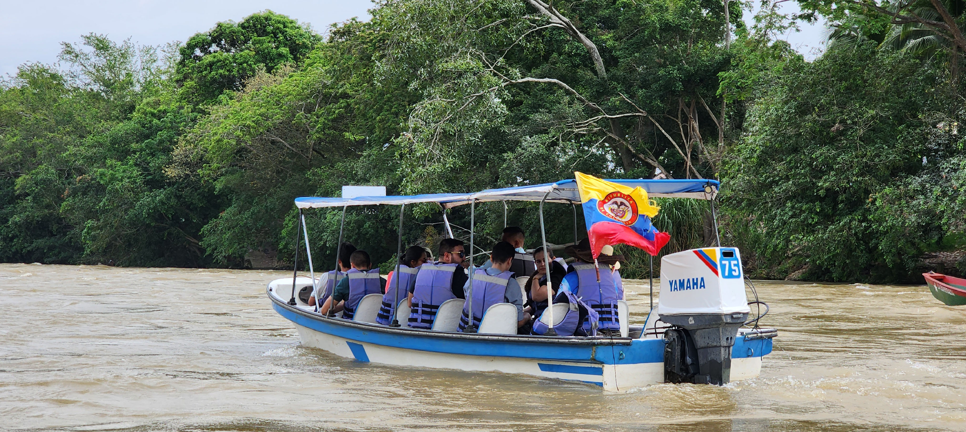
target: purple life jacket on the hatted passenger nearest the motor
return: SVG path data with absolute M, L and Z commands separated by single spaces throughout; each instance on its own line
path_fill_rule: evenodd
M 583 303 L 600 315 L 601 330 L 620 330 L 617 301 L 624 299 L 623 290 L 617 287 L 620 273 L 616 270 L 611 272 L 610 268 L 604 266 L 600 269 L 601 281 L 597 282 L 594 264 L 575 263 L 573 268 L 578 278 L 576 294 Z M 583 323 L 583 330 L 590 331 L 588 322 Z

